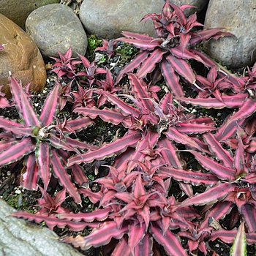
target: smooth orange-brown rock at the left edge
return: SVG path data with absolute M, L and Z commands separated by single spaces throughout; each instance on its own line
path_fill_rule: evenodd
M 0 52 L 1 90 L 10 97 L 9 72 L 25 86 L 31 82 L 31 89 L 41 91 L 46 83 L 45 63 L 37 45 L 12 20 L 0 14 L 0 42 L 6 44 Z

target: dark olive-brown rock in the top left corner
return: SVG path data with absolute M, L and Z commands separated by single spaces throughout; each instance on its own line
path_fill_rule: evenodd
M 59 3 L 60 0 L 1 0 L 0 13 L 10 18 L 20 28 L 25 29 L 26 18 L 29 13 L 46 4 Z

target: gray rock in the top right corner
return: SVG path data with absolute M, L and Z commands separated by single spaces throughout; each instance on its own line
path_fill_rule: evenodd
M 256 60 L 256 0 L 210 0 L 206 12 L 206 28 L 225 28 L 236 35 L 210 40 L 204 49 L 222 65 L 239 68 Z M 252 56 L 252 53 L 255 53 Z

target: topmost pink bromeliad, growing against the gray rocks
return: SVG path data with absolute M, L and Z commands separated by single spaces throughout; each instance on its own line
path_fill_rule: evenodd
M 204 56 L 202 59 L 202 53 L 195 48 L 195 45 L 206 39 L 219 39 L 219 37 L 232 34 L 220 32 L 222 29 L 195 31 L 195 27 L 203 26 L 203 24 L 196 21 L 196 13 L 190 15 L 189 18 L 186 17 L 184 10 L 190 7 L 192 6 L 188 4 L 177 7 L 167 0 L 161 14 L 144 16 L 142 20 L 145 22 L 148 19 L 153 20 L 157 38 L 128 31 L 122 32 L 124 37 L 116 40 L 135 45 L 141 50 L 138 56 L 121 70 L 116 78 L 117 83 L 127 73 L 138 69 L 138 78 L 146 78 L 146 75 L 154 71 L 154 83 L 161 78 L 160 74 L 162 74 L 170 91 L 176 96 L 184 96 L 179 83 L 179 75 L 200 89 L 196 84 L 195 72 L 188 60 L 199 61 L 206 67 L 209 66 L 208 58 Z

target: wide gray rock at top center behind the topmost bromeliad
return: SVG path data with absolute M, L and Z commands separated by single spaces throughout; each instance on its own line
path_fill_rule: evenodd
M 99 38 L 117 38 L 123 30 L 152 36 L 151 20 L 144 28 L 140 20 L 150 12 L 161 12 L 164 4 L 165 0 L 86 0 L 81 4 L 79 17 L 86 31 Z

